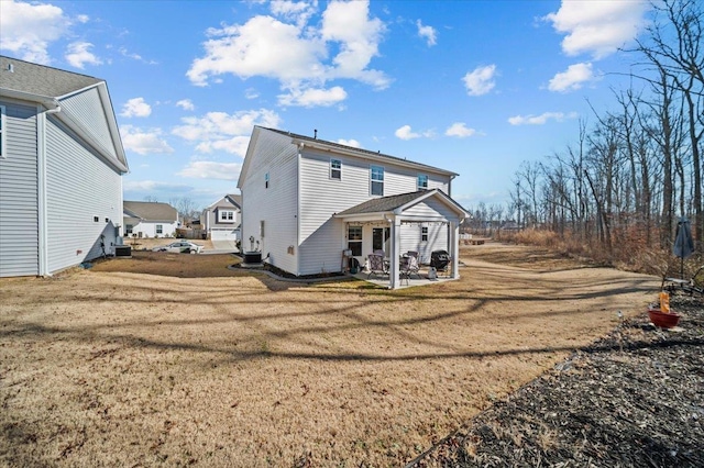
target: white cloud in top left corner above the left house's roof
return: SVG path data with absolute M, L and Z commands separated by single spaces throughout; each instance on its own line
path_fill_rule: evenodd
M 53 4 L 2 0 L 0 49 L 28 62 L 48 64 L 48 45 L 67 34 L 70 23 Z

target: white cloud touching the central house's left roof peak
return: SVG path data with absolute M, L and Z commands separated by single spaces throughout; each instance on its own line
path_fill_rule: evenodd
M 249 135 L 254 125 L 279 126 L 280 119 L 274 111 L 208 112 L 204 116 L 182 119 L 183 125 L 174 127 L 172 133 L 189 142 L 197 143 L 201 153 L 224 151 L 244 157 Z

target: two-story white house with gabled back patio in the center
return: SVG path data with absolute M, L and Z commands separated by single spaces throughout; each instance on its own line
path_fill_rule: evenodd
M 450 198 L 455 172 L 403 158 L 255 126 L 238 188 L 242 250 L 260 249 L 296 276 L 344 269 L 383 249 L 389 286 L 399 286 L 402 253 L 459 253 L 469 214 Z M 452 276 L 459 277 L 458 263 Z

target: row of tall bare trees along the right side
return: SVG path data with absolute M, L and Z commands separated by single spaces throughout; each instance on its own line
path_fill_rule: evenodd
M 525 161 L 506 207 L 480 204 L 475 225 L 512 219 L 603 249 L 669 249 L 680 216 L 704 245 L 704 12 L 697 0 L 652 3 L 653 21 L 634 48 L 630 87 L 614 105 L 581 120 L 574 141 Z M 477 220 L 479 218 L 479 220 Z

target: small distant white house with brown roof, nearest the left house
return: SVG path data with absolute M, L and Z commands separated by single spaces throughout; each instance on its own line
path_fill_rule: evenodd
M 168 203 L 124 201 L 125 237 L 174 237 L 178 211 Z

